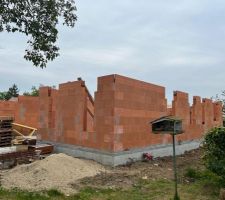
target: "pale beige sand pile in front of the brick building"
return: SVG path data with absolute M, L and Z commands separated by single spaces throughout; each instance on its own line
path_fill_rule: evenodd
M 5 188 L 25 190 L 58 189 L 64 193 L 75 192 L 71 183 L 103 172 L 104 167 L 94 161 L 82 160 L 65 154 L 53 154 L 44 160 L 17 166 L 3 173 Z

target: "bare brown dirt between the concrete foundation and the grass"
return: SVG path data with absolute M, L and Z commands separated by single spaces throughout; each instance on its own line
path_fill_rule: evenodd
M 186 152 L 184 155 L 177 156 L 178 178 L 180 182 L 185 180 L 184 173 L 189 167 L 200 169 L 201 163 L 200 149 Z M 173 160 L 172 157 L 157 158 L 149 162 L 135 162 L 130 166 L 119 166 L 107 168 L 104 173 L 97 174 L 94 177 L 86 177 L 72 184 L 77 190 L 83 187 L 97 188 L 129 188 L 136 184 L 138 180 L 157 180 L 173 179 Z

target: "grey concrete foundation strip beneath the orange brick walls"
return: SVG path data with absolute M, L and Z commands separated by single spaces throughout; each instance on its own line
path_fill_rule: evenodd
M 164 157 L 164 156 L 171 156 L 173 154 L 172 145 L 154 145 L 149 146 L 146 148 L 140 149 L 132 149 L 128 151 L 122 152 L 105 152 L 91 148 L 79 147 L 74 145 L 68 144 L 60 144 L 60 143 L 53 143 L 49 141 L 41 141 L 47 142 L 55 145 L 55 152 L 56 153 L 65 153 L 67 155 L 79 158 L 86 158 L 95 160 L 103 165 L 109 166 L 118 166 L 126 164 L 130 161 L 130 159 L 134 161 L 138 161 L 142 159 L 143 153 L 151 153 L 154 157 Z M 188 141 L 183 142 L 181 144 L 176 145 L 176 155 L 181 155 L 185 151 L 190 151 L 192 149 L 197 149 L 200 146 L 200 140 Z

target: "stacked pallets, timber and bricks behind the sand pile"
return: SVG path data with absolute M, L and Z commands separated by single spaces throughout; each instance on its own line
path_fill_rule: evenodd
M 0 117 L 0 168 L 10 168 L 17 164 L 30 163 L 41 154 L 53 152 L 53 145 L 36 146 L 37 129 L 13 123 L 12 117 Z M 12 146 L 13 145 L 13 146 Z

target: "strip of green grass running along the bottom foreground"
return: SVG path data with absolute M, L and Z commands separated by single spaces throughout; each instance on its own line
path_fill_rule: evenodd
M 185 178 L 192 182 L 180 183 L 178 191 L 182 200 L 217 200 L 221 180 L 209 171 L 187 169 Z M 140 180 L 128 190 L 84 188 L 69 197 L 57 190 L 27 192 L 0 189 L 0 199 L 5 200 L 170 200 L 174 195 L 174 183 L 170 180 Z

